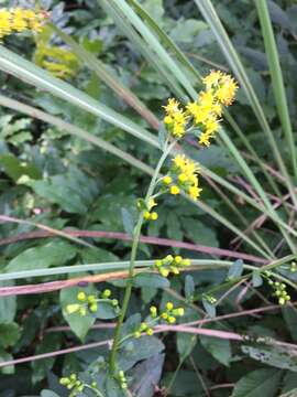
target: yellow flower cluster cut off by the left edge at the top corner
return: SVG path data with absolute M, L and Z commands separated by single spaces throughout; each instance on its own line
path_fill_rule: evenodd
M 0 40 L 11 33 L 32 30 L 38 32 L 46 15 L 29 9 L 13 8 L 0 10 Z

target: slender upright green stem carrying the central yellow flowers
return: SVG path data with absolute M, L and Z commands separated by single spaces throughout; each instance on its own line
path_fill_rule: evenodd
M 147 189 L 147 193 L 145 195 L 146 203 L 148 202 L 150 197 L 154 193 L 156 180 L 158 178 L 162 165 L 163 165 L 164 161 L 166 160 L 167 155 L 169 154 L 170 150 L 175 146 L 175 143 L 176 143 L 176 141 L 173 141 L 169 146 L 165 147 L 164 152 L 158 160 L 158 163 L 155 168 L 150 186 Z M 125 314 L 128 311 L 131 292 L 132 292 L 132 288 L 133 288 L 134 266 L 135 266 L 135 259 L 136 259 L 136 254 L 138 254 L 138 247 L 139 247 L 139 243 L 140 243 L 141 228 L 143 225 L 143 213 L 144 213 L 143 211 L 140 213 L 140 216 L 139 216 L 139 219 L 138 219 L 136 226 L 134 228 L 134 233 L 133 233 L 130 266 L 129 266 L 127 287 L 125 287 L 125 292 L 124 292 L 124 298 L 123 298 L 123 304 L 122 304 L 121 314 L 119 316 L 119 320 L 118 320 L 118 323 L 116 326 L 112 350 L 111 350 L 111 354 L 110 354 L 110 374 L 111 375 L 114 375 L 114 372 L 116 372 L 116 357 L 117 357 L 117 350 L 118 350 L 119 341 L 120 341 L 120 333 L 121 333 L 122 324 L 123 324 L 123 321 L 124 321 L 124 318 L 125 318 Z

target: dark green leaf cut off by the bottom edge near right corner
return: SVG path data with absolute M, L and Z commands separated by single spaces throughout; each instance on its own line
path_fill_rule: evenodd
M 253 371 L 237 383 L 232 397 L 276 397 L 280 377 L 279 369 Z

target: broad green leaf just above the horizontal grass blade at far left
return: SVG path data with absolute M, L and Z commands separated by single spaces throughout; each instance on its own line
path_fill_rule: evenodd
M 29 248 L 13 258 L 6 271 L 45 269 L 51 266 L 63 265 L 73 259 L 76 248 L 64 240 L 53 240 L 44 246 Z

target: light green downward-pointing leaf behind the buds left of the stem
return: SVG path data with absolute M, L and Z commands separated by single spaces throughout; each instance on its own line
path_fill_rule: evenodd
M 89 313 L 87 313 L 86 315 L 80 315 L 78 313 L 68 314 L 65 310 L 67 304 L 77 303 L 77 293 L 79 291 L 81 291 L 81 289 L 78 287 L 63 289 L 59 294 L 59 302 L 63 310 L 63 316 L 69 324 L 72 331 L 80 340 L 84 340 L 87 335 L 87 332 L 95 323 L 95 316 Z M 94 286 L 88 286 L 87 288 L 84 288 L 84 291 L 87 294 L 91 294 L 96 292 L 96 289 Z

